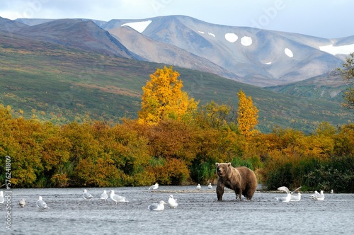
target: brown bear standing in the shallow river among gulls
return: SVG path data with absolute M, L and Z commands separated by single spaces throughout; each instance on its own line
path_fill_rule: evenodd
M 217 167 L 217 200 L 222 201 L 224 187 L 232 189 L 239 196 L 244 195 L 248 200 L 252 200 L 253 193 L 257 188 L 256 174 L 246 166 L 234 168 L 231 163 L 216 163 Z

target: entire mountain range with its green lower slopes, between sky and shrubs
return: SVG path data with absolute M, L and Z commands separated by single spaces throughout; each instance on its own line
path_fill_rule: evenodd
M 297 127 L 306 129 L 321 118 L 333 120 L 335 125 L 353 120 L 339 104 L 346 84 L 330 74 L 354 51 L 353 45 L 354 36 L 316 38 L 215 25 L 188 16 L 108 22 L 0 18 L 0 83 L 4 94 L 18 96 L 16 102 L 34 102 L 28 105 L 29 110 L 33 106 L 40 109 L 43 100 L 63 100 L 65 89 L 79 86 L 80 94 L 70 92 L 70 102 L 65 98 L 62 106 L 70 103 L 76 105 L 74 109 L 66 107 L 70 112 L 81 110 L 111 118 L 117 115 L 113 103 L 121 107 L 120 115 L 135 113 L 146 74 L 161 64 L 172 64 L 186 78 L 186 89 L 195 98 L 227 102 L 242 88 L 263 105 L 259 108 L 263 130 L 269 131 L 274 124 L 294 126 L 294 118 L 301 120 Z M 33 84 L 15 81 L 18 76 L 33 77 L 37 84 L 27 88 Z M 56 96 L 48 97 L 44 91 Z M 2 103 L 13 102 L 8 93 L 0 97 Z M 25 98 L 28 93 L 33 100 Z M 101 107 L 84 101 L 84 93 L 97 106 L 102 102 Z M 101 100 L 96 101 L 93 94 Z M 267 102 L 273 103 L 268 106 Z M 280 110 L 273 110 L 272 105 Z M 312 113 L 306 113 L 308 110 Z

